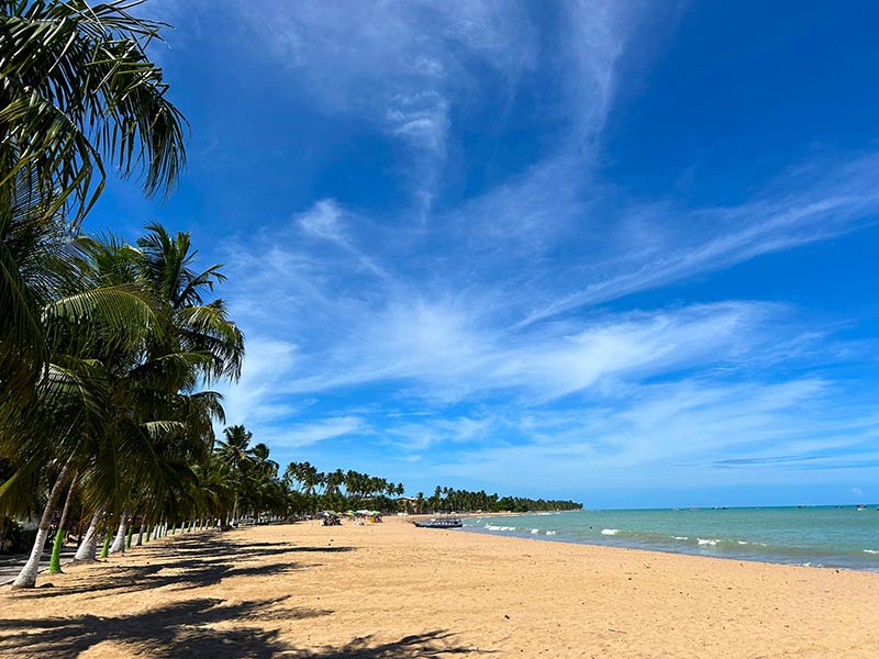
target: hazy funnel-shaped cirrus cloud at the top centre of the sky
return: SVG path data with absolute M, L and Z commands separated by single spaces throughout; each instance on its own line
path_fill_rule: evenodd
M 537 51 L 523 3 L 255 2 L 235 11 L 307 102 L 398 141 L 422 219 L 446 165 L 453 107 L 512 93 Z M 475 69 L 486 67 L 499 86 L 482 88 Z

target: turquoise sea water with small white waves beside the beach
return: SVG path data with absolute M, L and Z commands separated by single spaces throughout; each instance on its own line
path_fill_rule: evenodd
M 879 572 L 879 505 L 572 511 L 464 520 L 468 530 Z

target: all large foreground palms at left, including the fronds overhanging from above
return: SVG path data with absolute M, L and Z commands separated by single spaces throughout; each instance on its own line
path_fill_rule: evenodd
M 134 244 L 79 233 L 108 170 L 164 196 L 186 160 L 186 120 L 146 53 L 163 25 L 136 4 L 0 0 L 0 515 L 42 509 L 18 587 L 57 514 L 56 545 L 89 521 L 89 560 L 134 520 L 164 527 L 227 499 L 199 473 L 223 416 L 209 387 L 244 356 L 208 299 L 220 267 L 194 270 L 189 235 L 158 224 Z

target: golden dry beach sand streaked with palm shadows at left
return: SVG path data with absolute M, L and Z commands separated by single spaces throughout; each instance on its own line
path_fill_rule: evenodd
M 3 657 L 879 657 L 879 574 L 311 523 L 0 589 Z

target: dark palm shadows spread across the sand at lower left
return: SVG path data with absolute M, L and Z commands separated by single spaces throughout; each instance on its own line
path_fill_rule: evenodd
M 148 599 L 156 589 L 175 592 L 214 585 L 232 577 L 282 576 L 319 565 L 309 561 L 321 554 L 352 550 L 354 547 L 301 547 L 285 541 L 247 544 L 225 534 L 178 537 L 170 543 L 138 548 L 138 557 L 147 559 L 145 565 L 111 561 L 103 568 L 96 566 L 96 570 L 103 569 L 104 573 L 90 577 L 82 572 L 86 579 L 51 589 L 20 591 L 15 599 L 45 599 L 47 608 L 54 597 L 65 594 L 88 593 L 100 597 L 137 592 Z M 266 557 L 274 560 L 265 562 Z M 281 639 L 271 627 L 278 622 L 302 618 L 314 618 L 314 624 L 321 624 L 320 618 L 333 612 L 291 607 L 283 604 L 287 599 L 229 603 L 198 597 L 119 616 L 85 613 L 36 619 L 0 618 L 0 656 L 68 658 L 99 644 L 124 645 L 141 656 L 159 659 L 415 659 L 491 654 L 456 645 L 454 635 L 442 629 L 393 641 L 367 636 L 338 646 L 298 648 L 294 638 Z

